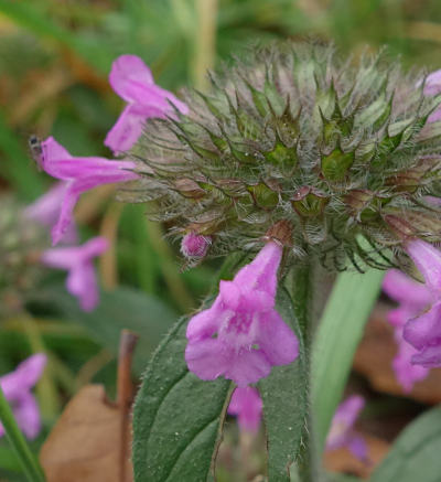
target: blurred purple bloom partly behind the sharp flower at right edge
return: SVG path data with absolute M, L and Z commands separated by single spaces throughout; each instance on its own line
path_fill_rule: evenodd
M 418 351 L 402 338 L 402 332 L 410 319 L 419 315 L 424 308 L 430 306 L 433 296 L 424 285 L 413 281 L 397 269 L 391 269 L 386 274 L 383 289 L 399 303 L 397 309 L 389 311 L 387 319 L 394 326 L 395 341 L 398 345 L 392 368 L 404 390 L 409 393 L 415 382 L 426 378 L 429 371 L 411 363 L 412 355 Z

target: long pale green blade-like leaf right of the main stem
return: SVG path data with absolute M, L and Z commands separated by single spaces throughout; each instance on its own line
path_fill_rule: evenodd
M 312 351 L 312 407 L 315 435 L 323 449 L 334 411 L 341 400 L 355 350 L 377 300 L 384 271 L 337 277 L 320 322 Z

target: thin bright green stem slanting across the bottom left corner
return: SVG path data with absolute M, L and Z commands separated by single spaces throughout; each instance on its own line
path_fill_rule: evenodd
M 44 482 L 43 472 L 34 458 L 28 442 L 20 431 L 3 390 L 0 387 L 0 420 L 3 424 L 8 440 L 14 449 L 20 463 L 30 482 Z

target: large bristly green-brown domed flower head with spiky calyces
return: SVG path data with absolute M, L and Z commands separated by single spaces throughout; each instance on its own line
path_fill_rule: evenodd
M 172 234 L 211 236 L 213 254 L 256 249 L 288 219 L 288 260 L 308 251 L 332 269 L 389 267 L 404 236 L 441 239 L 427 202 L 441 195 L 434 81 L 322 45 L 252 53 L 207 95 L 187 92 L 187 114 L 147 121 L 127 199 L 151 201 Z

